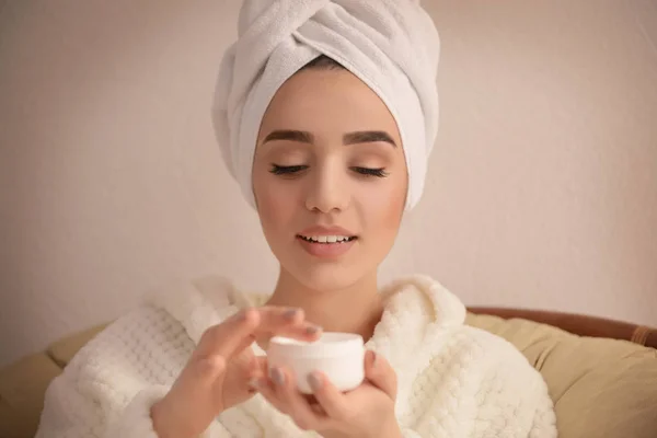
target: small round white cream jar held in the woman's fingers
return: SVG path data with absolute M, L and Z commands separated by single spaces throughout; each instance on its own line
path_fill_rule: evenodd
M 365 379 L 362 336 L 351 333 L 323 333 L 312 343 L 275 336 L 269 341 L 267 362 L 269 368 L 291 369 L 304 394 L 313 392 L 308 383 L 313 371 L 322 371 L 343 392 L 358 388 Z

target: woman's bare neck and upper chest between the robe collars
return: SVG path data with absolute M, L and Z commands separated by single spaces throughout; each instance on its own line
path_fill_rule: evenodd
M 267 304 L 303 309 L 306 319 L 325 332 L 357 333 L 366 342 L 383 313 L 376 273 L 344 289 L 316 290 L 281 269 Z

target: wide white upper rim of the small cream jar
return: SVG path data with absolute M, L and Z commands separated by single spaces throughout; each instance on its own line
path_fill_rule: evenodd
M 269 341 L 267 354 L 296 357 L 342 356 L 361 351 L 362 336 L 354 333 L 327 332 L 322 333 L 313 342 L 297 341 L 285 336 L 274 336 Z

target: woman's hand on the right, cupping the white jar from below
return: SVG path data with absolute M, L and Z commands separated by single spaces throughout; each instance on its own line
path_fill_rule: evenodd
M 396 374 L 373 351 L 367 351 L 366 380 L 354 391 L 342 393 L 322 373 L 310 374 L 314 400 L 299 392 L 291 370 L 275 368 L 268 378 L 265 370 L 254 371 L 258 392 L 303 430 L 316 430 L 326 438 L 402 436 L 394 416 Z

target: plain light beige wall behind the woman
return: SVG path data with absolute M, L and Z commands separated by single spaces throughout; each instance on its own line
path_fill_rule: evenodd
M 424 272 L 468 303 L 657 325 L 655 2 L 425 4 L 441 131 L 382 279 Z M 4 2 L 0 364 L 174 277 L 272 286 L 208 118 L 238 7 Z

